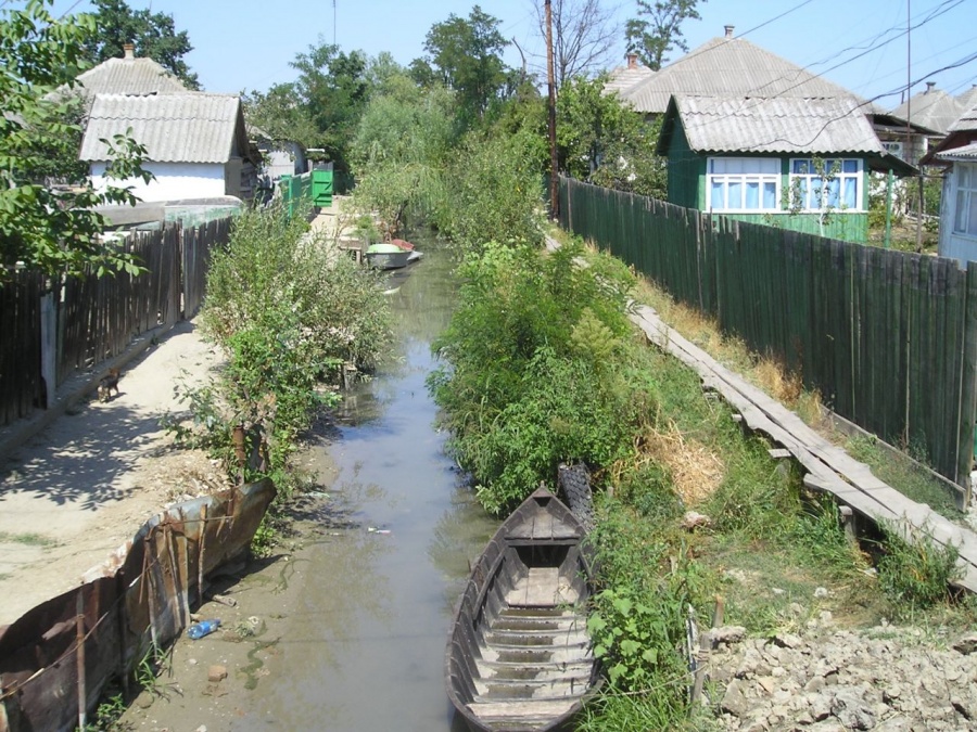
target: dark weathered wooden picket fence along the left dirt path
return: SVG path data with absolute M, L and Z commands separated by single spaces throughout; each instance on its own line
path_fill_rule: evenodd
M 229 233 L 230 219 L 192 229 L 131 231 L 124 246 L 144 273 L 91 272 L 53 287 L 48 293 L 56 334 L 52 385 L 42 376 L 45 278 L 21 272 L 0 286 L 0 426 L 45 408 L 48 388 L 98 368 L 140 335 L 192 318 L 203 299 L 211 249 L 226 243 Z

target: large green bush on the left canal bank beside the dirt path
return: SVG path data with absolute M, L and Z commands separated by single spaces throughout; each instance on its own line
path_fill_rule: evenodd
M 192 426 L 170 425 L 233 475 L 243 449 L 259 465 L 245 477 L 271 475 L 280 488 L 300 432 L 338 401 L 345 364 L 369 371 L 392 343 L 377 274 L 307 232 L 280 209 L 250 210 L 213 253 L 201 323 L 226 363 L 211 383 L 185 389 Z

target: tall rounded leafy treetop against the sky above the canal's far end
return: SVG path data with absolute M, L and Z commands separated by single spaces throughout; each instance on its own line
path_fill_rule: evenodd
M 499 33 L 499 23 L 479 5 L 471 9 L 468 18 L 452 13 L 447 21 L 431 26 L 424 40 L 430 57 L 413 63 L 411 75 L 421 80 L 427 68 L 432 69 L 444 86 L 458 92 L 470 117 L 483 117 L 510 80 L 502 60 L 509 42 Z

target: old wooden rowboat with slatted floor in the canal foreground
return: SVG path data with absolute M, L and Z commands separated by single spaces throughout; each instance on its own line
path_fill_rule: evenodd
M 599 689 L 585 535 L 540 488 L 475 562 L 445 651 L 448 697 L 470 729 L 563 729 Z

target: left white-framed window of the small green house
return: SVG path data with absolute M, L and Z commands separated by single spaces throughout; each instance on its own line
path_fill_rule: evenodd
M 706 187 L 713 211 L 775 211 L 781 200 L 781 160 L 775 157 L 710 157 Z

